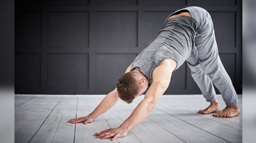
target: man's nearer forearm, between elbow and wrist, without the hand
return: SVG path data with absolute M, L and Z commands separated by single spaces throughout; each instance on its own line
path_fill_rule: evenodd
M 148 102 L 147 100 L 142 100 L 134 109 L 131 116 L 128 119 L 126 119 L 125 122 L 119 128 L 123 128 L 127 132 L 131 131 L 150 114 L 154 107 L 154 103 Z

